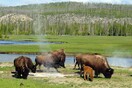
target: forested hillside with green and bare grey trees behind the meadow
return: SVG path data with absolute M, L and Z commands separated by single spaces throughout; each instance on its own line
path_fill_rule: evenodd
M 131 5 L 61 2 L 0 7 L 0 11 L 0 38 L 20 34 L 132 36 Z M 14 16 L 8 14 L 14 13 L 33 20 L 12 22 L 9 18 Z

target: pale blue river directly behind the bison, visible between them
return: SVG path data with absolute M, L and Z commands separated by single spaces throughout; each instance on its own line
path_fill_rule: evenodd
M 30 57 L 32 61 L 35 61 L 35 54 L 0 54 L 0 62 L 13 62 L 15 58 L 21 55 Z M 108 57 L 107 60 L 110 66 L 132 67 L 132 58 Z M 74 57 L 66 56 L 65 63 L 74 65 Z

